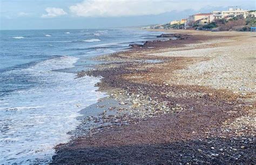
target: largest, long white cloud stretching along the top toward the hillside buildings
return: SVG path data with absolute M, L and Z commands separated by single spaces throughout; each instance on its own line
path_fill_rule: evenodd
M 87 0 L 70 6 L 70 11 L 82 17 L 118 17 L 158 15 L 173 10 L 199 10 L 207 5 L 230 5 L 230 1 L 171 0 Z

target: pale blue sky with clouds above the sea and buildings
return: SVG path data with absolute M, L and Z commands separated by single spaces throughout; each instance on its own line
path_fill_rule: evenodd
M 167 23 L 256 0 L 0 0 L 0 29 L 104 29 Z

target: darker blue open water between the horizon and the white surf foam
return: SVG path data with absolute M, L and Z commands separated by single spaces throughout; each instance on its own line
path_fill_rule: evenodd
M 158 33 L 127 29 L 1 31 L 0 96 L 35 86 L 28 75 L 1 76 L 4 71 L 29 67 L 54 57 L 112 53 L 127 48 L 130 43 L 154 39 Z

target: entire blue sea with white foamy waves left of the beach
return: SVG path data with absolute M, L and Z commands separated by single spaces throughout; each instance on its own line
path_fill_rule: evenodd
M 133 29 L 0 31 L 0 163 L 49 163 L 53 149 L 70 140 L 79 111 L 106 93 L 100 77 L 76 78 L 91 58 L 156 39 Z M 83 61 L 83 63 L 81 62 Z M 86 66 L 86 67 L 85 67 Z

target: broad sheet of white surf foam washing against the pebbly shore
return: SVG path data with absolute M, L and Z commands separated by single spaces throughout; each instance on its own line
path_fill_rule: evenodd
M 100 78 L 76 78 L 55 72 L 73 67 L 78 58 L 59 57 L 8 74 L 30 75 L 41 85 L 10 93 L 0 104 L 0 162 L 49 163 L 53 147 L 68 142 L 66 134 L 78 125 L 78 111 L 105 97 L 96 92 Z M 76 79 L 75 79 L 76 78 Z M 77 106 L 79 105 L 79 106 Z

